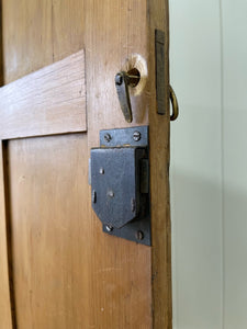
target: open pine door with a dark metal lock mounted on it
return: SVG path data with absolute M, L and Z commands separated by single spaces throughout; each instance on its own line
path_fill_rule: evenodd
M 168 1 L 2 0 L 1 16 L 0 328 L 171 328 Z M 114 77 L 136 66 L 128 124 Z M 103 234 L 88 183 L 100 129 L 138 125 L 150 134 L 151 247 Z

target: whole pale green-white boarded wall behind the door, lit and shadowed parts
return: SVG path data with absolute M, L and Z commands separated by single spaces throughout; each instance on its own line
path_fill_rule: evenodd
M 170 0 L 175 329 L 247 328 L 247 0 Z

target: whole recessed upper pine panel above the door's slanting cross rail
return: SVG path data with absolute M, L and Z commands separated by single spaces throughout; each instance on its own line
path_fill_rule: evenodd
M 83 0 L 2 0 L 3 73 L 9 83 L 85 47 Z

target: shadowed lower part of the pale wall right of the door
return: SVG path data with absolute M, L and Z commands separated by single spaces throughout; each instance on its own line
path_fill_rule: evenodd
M 247 259 L 247 191 L 231 185 L 224 191 L 223 203 L 221 181 L 172 168 L 176 328 L 221 328 L 223 288 L 228 321 L 246 328 L 247 281 L 243 286 L 243 280 L 247 264 L 243 258 Z

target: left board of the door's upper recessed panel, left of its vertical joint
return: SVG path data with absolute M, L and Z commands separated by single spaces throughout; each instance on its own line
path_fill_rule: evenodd
M 9 83 L 53 63 L 53 1 L 1 2 L 3 73 Z

